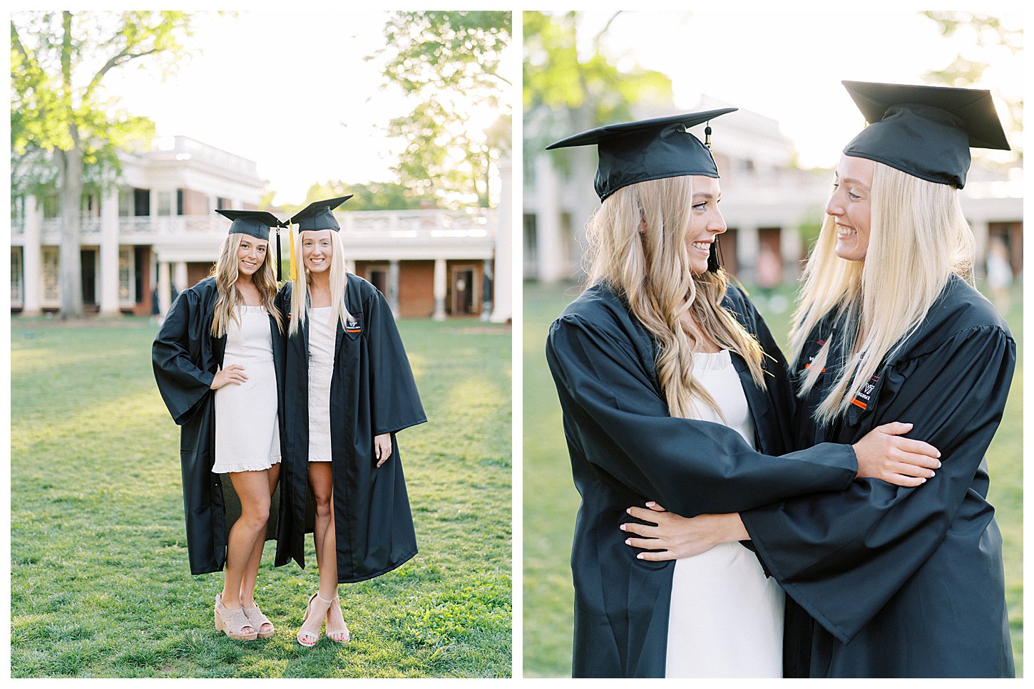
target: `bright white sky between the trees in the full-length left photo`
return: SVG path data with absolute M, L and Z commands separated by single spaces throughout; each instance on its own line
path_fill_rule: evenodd
M 384 131 L 413 104 L 384 88 L 381 12 L 260 10 L 200 21 L 202 52 L 166 83 L 154 70 L 112 70 L 105 84 L 159 135 L 182 134 L 254 160 L 300 203 L 316 182 L 389 181 L 401 143 Z M 118 73 L 117 73 L 118 72 Z

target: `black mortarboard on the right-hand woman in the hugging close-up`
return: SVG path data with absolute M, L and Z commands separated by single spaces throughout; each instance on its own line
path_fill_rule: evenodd
M 844 155 L 962 189 L 971 148 L 1009 150 L 990 91 L 841 83 L 870 123 L 851 139 Z

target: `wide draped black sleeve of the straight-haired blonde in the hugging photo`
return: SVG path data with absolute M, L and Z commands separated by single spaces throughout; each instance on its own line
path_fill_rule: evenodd
M 1014 365 L 1013 340 L 978 326 L 886 371 L 880 403 L 889 401 L 873 425 L 912 422 L 908 437 L 941 450 L 941 468 L 922 486 L 861 479 L 841 493 L 741 512 L 772 576 L 841 641 L 879 613 L 952 527 L 983 471 Z

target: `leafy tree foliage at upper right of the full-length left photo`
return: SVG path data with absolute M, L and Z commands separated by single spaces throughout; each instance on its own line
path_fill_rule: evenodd
M 419 196 L 488 207 L 491 166 L 510 147 L 512 84 L 500 72 L 511 18 L 509 11 L 393 12 L 386 23 L 385 80 L 417 103 L 388 125 L 406 144 L 393 169 Z

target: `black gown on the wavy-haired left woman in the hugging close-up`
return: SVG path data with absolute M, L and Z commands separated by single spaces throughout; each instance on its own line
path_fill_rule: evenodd
M 725 307 L 772 357 L 765 390 L 733 363 L 754 416 L 755 451 L 724 425 L 673 418 L 655 372 L 655 343 L 611 289 L 585 290 L 550 328 L 546 358 L 582 503 L 571 568 L 574 677 L 664 677 L 674 562 L 636 559 L 618 525 L 657 500 L 680 514 L 729 512 L 789 495 L 843 490 L 850 445 L 787 451 L 793 401 L 782 353 L 754 306 L 730 287 Z

